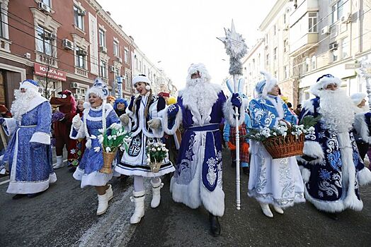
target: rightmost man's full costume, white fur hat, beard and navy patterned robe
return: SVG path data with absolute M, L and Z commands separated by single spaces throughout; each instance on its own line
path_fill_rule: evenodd
M 328 85 L 338 89 L 328 92 Z M 304 155 L 298 159 L 303 167 L 305 197 L 317 209 L 331 213 L 362 210 L 359 186 L 371 181 L 353 137 L 353 102 L 341 93 L 340 86 L 341 80 L 330 74 L 318 78 L 310 88 L 316 97 L 304 102 L 300 116 L 321 117 L 314 126 L 315 135 L 306 136 Z M 336 98 L 337 104 L 333 103 Z

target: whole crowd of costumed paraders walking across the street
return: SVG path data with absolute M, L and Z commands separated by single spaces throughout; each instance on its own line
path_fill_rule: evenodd
M 132 78 L 136 94 L 130 102 L 112 97 L 100 78 L 87 90 L 85 102 L 76 102 L 69 90 L 47 100 L 40 95 L 38 82 L 24 80 L 15 90 L 11 111 L 0 106 L 0 172 L 10 176 L 6 192 L 18 199 L 46 191 L 57 181 L 55 169 L 64 167 L 65 147 L 74 179 L 81 181 L 81 188 L 96 190 L 96 215 L 103 215 L 113 198 L 110 179 L 133 176 L 135 211 L 130 223 L 137 224 L 144 216 L 144 179 L 150 179 L 155 208 L 161 202 L 161 176 L 173 173 L 169 185 L 173 200 L 193 209 L 205 207 L 210 232 L 219 236 L 219 217 L 224 215 L 222 146 L 229 148 L 236 167 L 238 123 L 239 158 L 249 176 L 247 194 L 256 199 L 263 215 L 273 217 L 270 205 L 283 214 L 285 208 L 306 200 L 332 219 L 347 208 L 362 210 L 359 186 L 371 182 L 371 171 L 363 162 L 366 154 L 371 156 L 366 95 L 348 97 L 341 80 L 328 74 L 310 88 L 313 99 L 292 109 L 282 100 L 277 80 L 268 73 L 263 76 L 256 83 L 256 98 L 248 100 L 233 91 L 227 98 L 220 85 L 210 82 L 203 64 L 192 64 L 177 100 L 167 92 L 154 95 L 149 78 L 139 75 Z M 290 127 L 306 116 L 319 121 L 305 136 L 302 155 L 273 158 L 262 141 L 246 138 L 250 130 L 273 128 L 280 122 Z M 123 127 L 131 140 L 110 164 L 113 172 L 107 173 L 102 170 L 98 135 L 112 126 Z M 169 149 L 156 172 L 149 167 L 149 142 L 164 143 Z M 52 145 L 57 155 L 54 167 Z

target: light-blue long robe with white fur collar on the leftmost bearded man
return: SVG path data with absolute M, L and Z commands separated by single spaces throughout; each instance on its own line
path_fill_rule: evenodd
M 6 134 L 11 135 L 4 155 L 10 170 L 7 193 L 38 193 L 57 181 L 52 168 L 51 124 L 52 108 L 41 96 L 31 100 L 28 112 L 21 116 L 21 121 L 5 119 Z M 31 142 L 42 145 L 33 149 Z

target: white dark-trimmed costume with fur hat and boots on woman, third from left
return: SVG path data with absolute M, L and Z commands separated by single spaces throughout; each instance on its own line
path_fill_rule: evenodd
M 151 171 L 147 162 L 147 141 L 159 142 L 164 135 L 161 119 L 166 112 L 166 103 L 163 97 L 152 95 L 150 81 L 147 76 L 139 75 L 132 79 L 135 88 L 137 83 L 145 83 L 147 93 L 133 96 L 126 109 L 126 114 L 120 116 L 125 131 L 131 133 L 132 141 L 127 151 L 122 155 L 121 162 L 115 171 L 127 176 L 134 176 L 134 191 L 132 201 L 135 203 L 135 212 L 130 218 L 131 224 L 140 222 L 144 216 L 144 177 L 149 177 L 152 183 L 151 207 L 158 207 L 161 200 L 160 176 L 174 171 L 173 164 L 166 157 L 161 164 L 159 172 Z M 154 124 L 153 126 L 150 124 Z

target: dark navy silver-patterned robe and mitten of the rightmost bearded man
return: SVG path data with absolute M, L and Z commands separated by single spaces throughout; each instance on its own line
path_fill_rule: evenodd
M 319 97 L 304 102 L 299 120 L 319 116 Z M 341 212 L 362 210 L 360 183 L 371 180 L 370 171 L 360 160 L 353 131 L 338 133 L 320 120 L 315 134 L 307 135 L 304 155 L 298 157 L 305 182 L 305 197 L 319 210 Z

